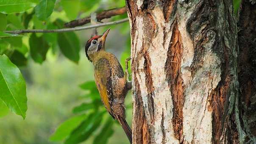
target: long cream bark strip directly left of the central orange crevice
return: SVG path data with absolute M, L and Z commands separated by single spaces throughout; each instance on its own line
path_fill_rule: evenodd
M 154 103 L 155 103 L 155 136 L 154 139 L 157 144 L 163 143 L 163 133 L 161 123 L 163 123 L 164 131 L 166 134 L 165 143 L 178 144 L 178 140 L 174 137 L 173 124 L 172 124 L 172 111 L 173 102 L 172 94 L 166 81 L 164 64 L 167 60 L 167 50 L 164 48 L 164 14 L 159 7 L 156 7 L 152 11 L 154 22 L 157 25 L 156 36 L 152 39 L 152 45 L 148 50 L 151 58 L 151 66 L 154 91 Z M 163 119 L 164 118 L 164 119 Z

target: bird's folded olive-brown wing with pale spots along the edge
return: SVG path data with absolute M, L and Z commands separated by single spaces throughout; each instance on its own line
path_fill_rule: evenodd
M 113 101 L 111 71 L 109 60 L 106 58 L 101 58 L 95 64 L 95 83 L 101 100 L 110 114 L 112 114 L 111 102 Z

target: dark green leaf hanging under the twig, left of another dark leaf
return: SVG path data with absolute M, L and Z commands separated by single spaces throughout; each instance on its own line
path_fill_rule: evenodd
M 43 37 L 37 37 L 33 33 L 29 39 L 30 53 L 33 60 L 39 64 L 45 61 L 46 53 L 49 49 L 48 43 L 43 39 Z

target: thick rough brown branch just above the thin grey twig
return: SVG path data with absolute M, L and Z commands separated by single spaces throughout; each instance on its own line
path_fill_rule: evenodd
M 98 21 L 100 21 L 101 19 L 106 19 L 106 18 L 110 18 L 112 16 L 125 14 L 125 13 L 126 13 L 126 8 L 125 7 L 114 8 L 114 9 L 103 11 L 100 14 L 97 14 L 96 18 L 97 18 Z M 81 25 L 84 25 L 86 23 L 89 23 L 90 19 L 91 19 L 91 17 L 76 19 L 76 20 L 72 20 L 71 22 L 67 22 L 64 25 L 67 28 L 74 28 L 74 27 L 81 26 Z

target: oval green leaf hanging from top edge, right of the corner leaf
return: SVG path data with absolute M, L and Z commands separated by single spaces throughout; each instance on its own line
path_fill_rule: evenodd
M 56 0 L 41 0 L 36 6 L 36 17 L 46 20 L 52 13 Z

